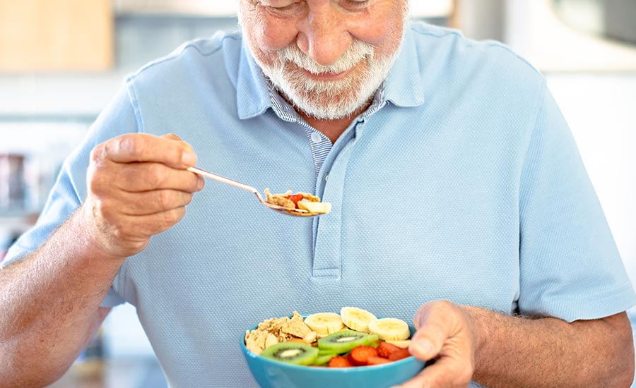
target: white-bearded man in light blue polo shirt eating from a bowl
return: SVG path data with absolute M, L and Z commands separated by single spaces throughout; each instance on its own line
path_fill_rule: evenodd
M 435 363 L 404 387 L 627 387 L 635 295 L 546 83 L 407 8 L 241 0 L 242 33 L 132 75 L 0 271 L 0 387 L 59 378 L 124 301 L 173 387 L 254 386 L 247 327 L 345 305 L 413 319 Z

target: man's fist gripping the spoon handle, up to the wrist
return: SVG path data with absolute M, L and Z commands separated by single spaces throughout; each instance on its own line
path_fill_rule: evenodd
M 95 147 L 81 210 L 91 243 L 113 257 L 145 249 L 151 236 L 184 217 L 204 187 L 201 176 L 187 171 L 195 164 L 192 147 L 172 134 L 122 135 Z

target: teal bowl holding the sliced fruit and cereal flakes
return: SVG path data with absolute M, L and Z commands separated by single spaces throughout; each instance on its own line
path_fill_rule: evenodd
M 257 326 L 249 330 L 257 329 Z M 415 327 L 408 327 L 413 337 Z M 241 337 L 241 350 L 249 372 L 262 388 L 387 388 L 411 379 L 425 365 L 413 356 L 383 365 L 352 368 L 291 365 L 269 360 L 247 350 L 245 334 Z

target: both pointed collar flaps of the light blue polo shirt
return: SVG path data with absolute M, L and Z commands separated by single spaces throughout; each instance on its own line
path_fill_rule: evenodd
M 420 62 L 413 40 L 413 32 L 407 28 L 400 54 L 375 96 L 374 104 L 389 101 L 397 107 L 416 107 L 424 102 L 424 83 L 421 80 Z M 237 109 L 240 119 L 252 119 L 272 108 L 277 95 L 263 71 L 254 61 L 244 39 L 237 79 Z M 382 101 L 378 101 L 378 97 Z M 283 104 L 281 104 L 283 105 Z M 286 104 L 285 104 L 286 105 Z

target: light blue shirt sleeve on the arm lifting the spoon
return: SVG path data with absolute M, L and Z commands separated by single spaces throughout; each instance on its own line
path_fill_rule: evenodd
M 139 131 L 138 128 L 140 126 L 129 92 L 127 88 L 122 88 L 90 127 L 81 144 L 64 160 L 35 226 L 9 248 L 4 261 L 0 263 L 0 270 L 37 250 L 86 199 L 86 170 L 93 147 L 118 135 Z M 111 286 L 102 307 L 120 303 L 124 303 L 124 299 Z

